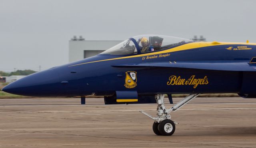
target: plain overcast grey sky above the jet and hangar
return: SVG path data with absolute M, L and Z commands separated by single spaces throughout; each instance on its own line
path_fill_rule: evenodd
M 74 35 L 256 42 L 255 6 L 255 0 L 0 0 L 0 70 L 66 64 Z

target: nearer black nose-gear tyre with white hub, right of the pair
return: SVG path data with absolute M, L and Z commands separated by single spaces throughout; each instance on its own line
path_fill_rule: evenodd
M 175 132 L 175 124 L 172 120 L 165 119 L 159 123 L 158 130 L 163 136 L 171 136 Z

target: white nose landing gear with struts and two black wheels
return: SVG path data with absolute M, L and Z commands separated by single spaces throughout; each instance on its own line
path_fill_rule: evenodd
M 155 121 L 152 128 L 156 135 L 171 136 L 175 132 L 175 124 L 178 123 L 171 120 L 170 112 L 178 110 L 187 104 L 190 100 L 196 98 L 198 95 L 199 94 L 190 94 L 186 96 L 186 98 L 180 100 L 180 102 L 175 104 L 172 108 L 168 109 L 164 106 L 164 94 L 157 94 L 155 96 L 156 102 L 158 104 L 156 114 L 157 116 L 151 116 L 142 110 L 140 112 Z

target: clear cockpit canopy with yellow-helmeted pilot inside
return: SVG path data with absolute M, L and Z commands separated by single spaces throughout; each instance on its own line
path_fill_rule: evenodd
M 109 48 L 101 54 L 111 55 L 129 55 L 140 54 L 146 52 L 154 52 L 158 50 L 170 49 L 176 46 L 194 42 L 184 38 L 162 35 L 140 35 L 134 36 L 128 40 Z

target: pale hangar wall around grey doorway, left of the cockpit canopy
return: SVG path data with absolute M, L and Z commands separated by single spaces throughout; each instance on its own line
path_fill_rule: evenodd
M 88 55 L 96 55 L 100 51 L 107 50 L 108 48 L 115 46 L 122 42 L 121 40 L 70 40 L 69 41 L 69 62 L 84 59 L 84 50 L 94 50 L 95 52 L 89 52 Z

